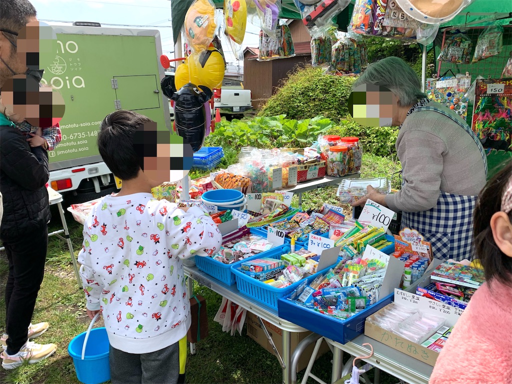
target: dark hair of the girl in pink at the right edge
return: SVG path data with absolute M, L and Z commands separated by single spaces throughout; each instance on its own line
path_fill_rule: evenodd
M 473 222 L 476 257 L 482 263 L 485 280 L 498 279 L 505 284 L 512 283 L 512 258 L 504 254 L 496 245 L 490 228 L 490 218 L 501 210 L 501 198 L 510 177 L 512 177 L 512 161 L 509 160 L 480 192 Z M 512 219 L 511 212 L 507 213 L 508 218 Z

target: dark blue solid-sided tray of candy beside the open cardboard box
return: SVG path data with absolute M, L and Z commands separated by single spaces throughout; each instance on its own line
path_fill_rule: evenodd
M 315 275 L 308 278 L 308 284 L 316 278 Z M 393 301 L 394 293 L 381 298 L 377 303 L 368 307 L 364 311 L 356 313 L 346 320 L 335 318 L 333 316 L 318 313 L 310 308 L 288 300 L 291 295 L 288 292 L 278 300 L 278 315 L 298 326 L 306 328 L 319 335 L 325 336 L 335 342 L 345 344 L 353 340 L 365 331 L 366 318 L 381 308 L 387 306 Z

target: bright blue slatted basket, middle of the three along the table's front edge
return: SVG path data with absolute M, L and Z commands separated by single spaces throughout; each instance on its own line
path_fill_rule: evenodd
M 283 248 L 281 253 L 273 254 L 270 257 L 280 260 L 282 254 L 291 251 L 290 246 L 288 244 L 285 244 L 282 247 Z M 267 257 L 269 256 L 267 255 Z M 322 271 L 316 272 L 315 274 L 311 275 L 308 279 L 316 278 L 316 276 L 318 276 L 319 274 L 327 272 L 329 268 L 325 268 Z M 253 299 L 259 301 L 260 303 L 273 309 L 278 309 L 278 301 L 281 297 L 291 294 L 295 289 L 298 288 L 298 286 L 304 283 L 304 279 L 302 279 L 287 287 L 275 288 L 272 287 L 270 284 L 265 284 L 259 280 L 251 278 L 249 275 L 241 271 L 240 265 L 232 266 L 231 272 L 233 272 L 233 274 L 235 275 L 235 278 L 237 280 L 237 288 L 241 293 L 249 297 L 252 297 Z M 293 321 L 293 323 L 297 324 L 295 321 Z

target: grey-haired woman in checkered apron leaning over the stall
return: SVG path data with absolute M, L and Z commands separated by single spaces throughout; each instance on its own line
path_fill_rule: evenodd
M 471 257 L 473 209 L 485 185 L 487 161 L 482 144 L 456 113 L 430 101 L 407 63 L 387 57 L 372 63 L 355 81 L 393 93 L 393 126 L 402 188 L 381 195 L 368 186 L 367 199 L 402 211 L 402 228 L 416 229 L 432 243 L 434 257 Z

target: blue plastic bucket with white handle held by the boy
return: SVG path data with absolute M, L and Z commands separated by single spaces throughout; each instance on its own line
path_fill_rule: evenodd
M 76 377 L 84 384 L 100 384 L 110 380 L 109 337 L 105 327 L 91 329 L 96 318 L 88 331 L 73 338 L 68 346 L 69 355 L 75 364 Z M 87 343 L 85 351 L 84 342 Z

